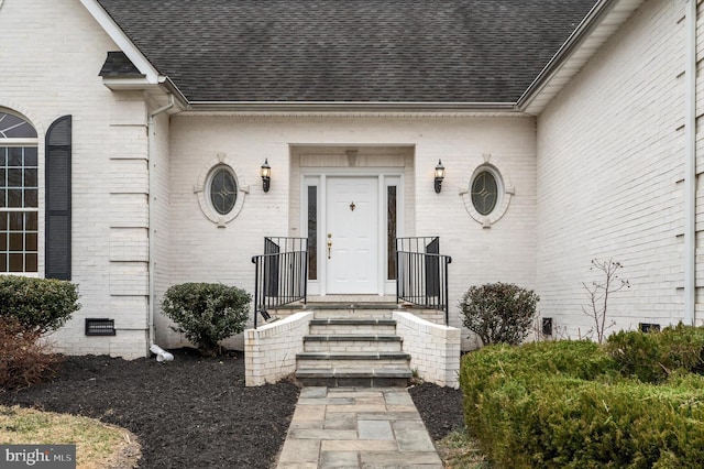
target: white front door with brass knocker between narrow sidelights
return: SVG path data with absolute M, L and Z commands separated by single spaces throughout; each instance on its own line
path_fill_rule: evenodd
M 330 176 L 326 198 L 327 292 L 378 293 L 378 177 Z

